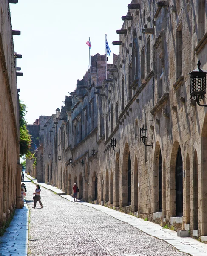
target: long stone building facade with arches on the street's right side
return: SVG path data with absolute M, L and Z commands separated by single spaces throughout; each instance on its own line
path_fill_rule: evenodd
M 47 182 L 68 194 L 76 182 L 82 200 L 186 229 L 205 241 L 207 111 L 191 99 L 189 73 L 198 60 L 207 70 L 206 12 L 205 0 L 128 5 L 107 78 L 105 55 L 91 56 L 62 116 L 56 113 L 58 122 L 44 131 L 50 136 L 48 129 L 57 128 L 55 143 L 44 148 Z

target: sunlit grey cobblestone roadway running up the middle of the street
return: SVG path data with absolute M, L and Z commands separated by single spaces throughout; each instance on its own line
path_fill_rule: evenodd
M 33 209 L 36 185 L 27 182 L 30 256 L 185 256 L 99 210 L 68 201 L 41 187 L 43 209 Z

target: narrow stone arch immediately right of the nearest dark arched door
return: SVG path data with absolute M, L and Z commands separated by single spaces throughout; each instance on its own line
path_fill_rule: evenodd
M 185 194 L 184 194 L 184 223 L 190 223 L 190 158 L 189 154 L 186 155 L 185 160 Z

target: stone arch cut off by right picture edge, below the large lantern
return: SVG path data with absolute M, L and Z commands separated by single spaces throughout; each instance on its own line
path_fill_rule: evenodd
M 207 113 L 204 118 L 204 123 L 201 132 L 201 167 L 199 170 L 199 177 L 201 177 L 201 195 L 199 199 L 202 201 L 201 210 L 199 215 L 201 216 L 201 236 L 207 236 Z M 200 175 L 201 173 L 201 175 Z

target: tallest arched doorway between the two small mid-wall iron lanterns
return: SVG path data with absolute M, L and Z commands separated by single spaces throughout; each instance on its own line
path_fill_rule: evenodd
M 129 162 L 129 145 L 125 144 L 123 163 L 122 163 L 122 206 L 128 205 L 128 162 Z

